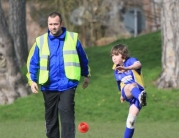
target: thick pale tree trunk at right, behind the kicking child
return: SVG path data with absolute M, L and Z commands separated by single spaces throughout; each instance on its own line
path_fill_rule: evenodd
M 179 88 L 179 1 L 163 0 L 162 25 L 162 73 L 158 88 Z

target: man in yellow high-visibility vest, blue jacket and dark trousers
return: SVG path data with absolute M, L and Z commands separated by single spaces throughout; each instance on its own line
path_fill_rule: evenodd
M 32 92 L 37 94 L 38 84 L 41 86 L 47 137 L 60 137 L 59 112 L 61 137 L 75 138 L 75 90 L 80 76 L 84 76 L 83 88 L 88 86 L 90 72 L 78 34 L 62 27 L 58 12 L 48 16 L 48 32 L 36 38 L 27 68 Z

